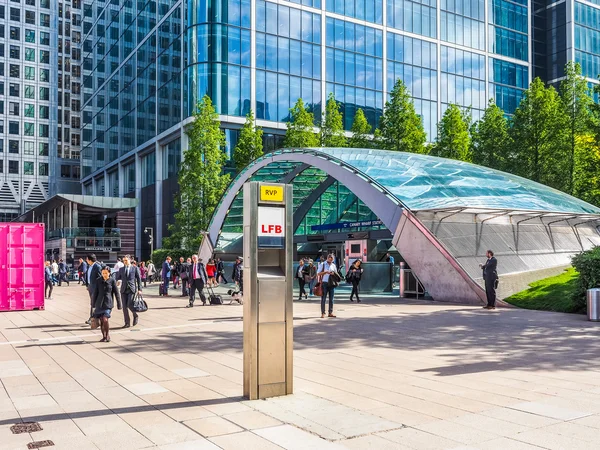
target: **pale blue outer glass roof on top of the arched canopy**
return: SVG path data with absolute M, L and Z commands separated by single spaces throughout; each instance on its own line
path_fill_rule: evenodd
M 482 208 L 600 214 L 600 208 L 525 178 L 435 156 L 316 148 L 380 184 L 411 210 Z M 293 150 L 285 150 L 293 151 Z

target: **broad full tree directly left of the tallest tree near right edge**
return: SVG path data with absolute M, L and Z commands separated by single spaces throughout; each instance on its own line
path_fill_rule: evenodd
M 556 90 L 544 86 L 539 78 L 533 80 L 512 119 L 514 155 L 510 171 L 564 190 L 569 180 L 565 119 Z

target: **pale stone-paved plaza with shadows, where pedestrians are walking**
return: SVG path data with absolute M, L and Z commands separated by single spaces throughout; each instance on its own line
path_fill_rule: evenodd
M 81 286 L 0 313 L 0 449 L 598 449 L 600 325 L 340 295 L 294 304 L 295 394 L 245 401 L 242 307 L 147 289 L 100 343 Z M 39 422 L 41 431 L 11 426 Z

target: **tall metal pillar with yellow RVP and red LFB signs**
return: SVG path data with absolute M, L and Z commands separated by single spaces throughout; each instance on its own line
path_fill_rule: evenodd
M 293 189 L 244 185 L 244 396 L 293 391 Z

